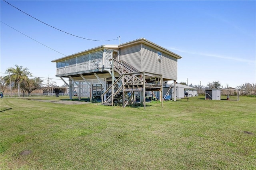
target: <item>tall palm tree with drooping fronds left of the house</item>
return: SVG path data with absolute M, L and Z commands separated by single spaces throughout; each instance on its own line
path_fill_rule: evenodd
M 6 73 L 10 73 L 11 81 L 14 81 L 14 85 L 18 85 L 18 97 L 20 97 L 20 82 L 27 81 L 28 76 L 32 76 L 32 73 L 28 71 L 28 68 L 22 68 L 22 66 L 15 65 L 16 68 L 10 67 L 6 70 Z M 9 75 L 5 76 L 6 83 L 10 84 Z

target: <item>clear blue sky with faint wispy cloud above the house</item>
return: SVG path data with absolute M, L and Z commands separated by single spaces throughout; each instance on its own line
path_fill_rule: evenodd
M 94 40 L 146 38 L 182 56 L 178 82 L 225 87 L 256 83 L 256 1 L 8 1 L 65 32 Z M 71 55 L 110 42 L 55 30 L 0 1 L 1 21 L 52 49 Z M 15 64 L 33 76 L 56 78 L 64 55 L 1 23 L 1 76 Z M 57 78 L 59 79 L 59 78 Z M 58 85 L 63 81 L 54 80 Z

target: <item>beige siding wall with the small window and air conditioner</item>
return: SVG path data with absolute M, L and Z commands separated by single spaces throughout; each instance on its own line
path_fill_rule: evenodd
M 162 53 L 162 59 L 158 60 L 158 50 L 142 45 L 143 71 L 162 74 L 164 79 L 177 80 L 177 59 Z

